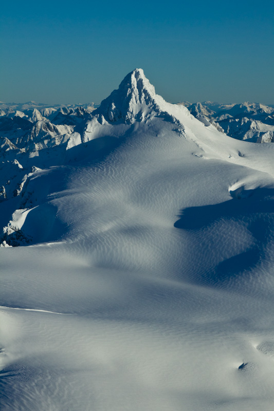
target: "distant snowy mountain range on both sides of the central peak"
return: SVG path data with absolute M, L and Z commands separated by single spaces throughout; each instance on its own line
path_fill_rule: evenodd
M 245 102 L 211 101 L 178 103 L 205 125 L 212 124 L 228 136 L 254 143 L 274 142 L 274 106 Z M 38 151 L 65 143 L 72 133 L 92 119 L 99 104 L 46 105 L 0 102 L 0 153 L 12 148 Z M 81 126 L 82 124 L 82 126 Z

